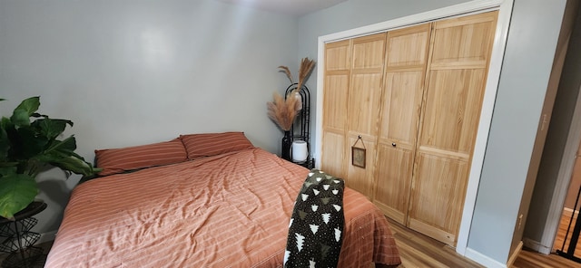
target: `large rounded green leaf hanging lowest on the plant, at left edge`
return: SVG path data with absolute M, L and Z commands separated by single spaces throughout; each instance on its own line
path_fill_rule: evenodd
M 0 177 L 0 216 L 11 219 L 34 201 L 38 186 L 34 177 L 10 174 Z

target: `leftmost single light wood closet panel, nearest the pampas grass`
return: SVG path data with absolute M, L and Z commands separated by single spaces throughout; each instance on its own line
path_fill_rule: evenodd
M 320 167 L 335 177 L 347 175 L 346 129 L 351 41 L 325 44 L 325 81 Z

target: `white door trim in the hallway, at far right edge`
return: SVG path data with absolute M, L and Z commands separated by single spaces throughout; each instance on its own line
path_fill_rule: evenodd
M 573 119 L 571 120 L 571 127 L 566 137 L 565 150 L 563 151 L 563 158 L 561 158 L 561 166 L 556 175 L 556 187 L 553 191 L 553 198 L 551 205 L 548 208 L 547 220 L 545 221 L 545 230 L 541 237 L 540 244 L 552 247 L 555 243 L 556 232 L 563 213 L 563 206 L 565 206 L 566 193 L 569 189 L 571 176 L 573 175 L 573 167 L 575 165 L 575 154 L 579 148 L 579 139 L 581 139 L 581 88 L 577 95 L 577 102 L 575 110 L 573 111 Z

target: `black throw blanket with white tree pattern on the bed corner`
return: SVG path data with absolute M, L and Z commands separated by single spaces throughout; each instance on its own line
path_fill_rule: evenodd
M 345 182 L 312 169 L 292 210 L 284 267 L 337 267 Z

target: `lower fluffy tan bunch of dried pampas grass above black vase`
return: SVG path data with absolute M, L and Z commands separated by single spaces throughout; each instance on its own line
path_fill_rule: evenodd
M 281 94 L 274 93 L 272 97 L 274 101 L 266 103 L 268 108 L 268 116 L 284 131 L 291 130 L 294 118 L 302 108 L 300 98 L 297 98 L 298 91 L 291 91 L 286 100 L 282 98 Z

